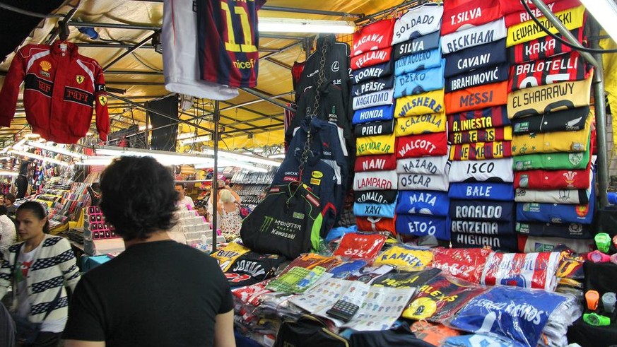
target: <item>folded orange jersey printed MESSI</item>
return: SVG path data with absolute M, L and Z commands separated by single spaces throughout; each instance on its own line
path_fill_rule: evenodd
M 507 103 L 507 81 L 456 90 L 445 95 L 448 114 L 481 110 Z

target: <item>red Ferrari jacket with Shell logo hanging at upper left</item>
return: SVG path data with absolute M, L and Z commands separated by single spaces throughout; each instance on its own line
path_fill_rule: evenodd
M 100 65 L 77 52 L 76 45 L 25 45 L 15 54 L 0 90 L 0 127 L 10 127 L 19 87 L 25 81 L 25 117 L 33 133 L 57 143 L 76 143 L 86 135 L 96 107 L 96 128 L 107 140 L 105 79 Z

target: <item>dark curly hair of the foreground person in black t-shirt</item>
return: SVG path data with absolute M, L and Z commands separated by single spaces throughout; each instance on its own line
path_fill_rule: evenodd
M 152 157 L 120 157 L 100 177 L 100 208 L 124 240 L 146 239 L 175 225 L 174 179 Z

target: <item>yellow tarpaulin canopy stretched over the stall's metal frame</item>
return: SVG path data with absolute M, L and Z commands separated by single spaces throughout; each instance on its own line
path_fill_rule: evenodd
M 391 14 L 390 9 L 399 4 L 400 0 L 332 0 L 317 3 L 268 0 L 265 7 L 259 11 L 259 17 L 357 20 L 358 23 L 363 23 L 364 20 L 366 23 L 365 15 L 384 10 L 389 10 L 386 14 Z M 404 4 L 409 6 L 416 4 L 416 1 L 404 1 Z M 36 11 L 31 8 L 30 10 Z M 306 13 L 310 11 L 305 10 L 332 13 Z M 68 40 L 79 46 L 81 54 L 93 57 L 105 68 L 105 80 L 110 94 L 124 98 L 109 98 L 111 131 L 125 129 L 133 124 L 145 129 L 145 112 L 140 105 L 147 100 L 169 95 L 163 86 L 163 58 L 155 52 L 151 40 L 162 23 L 163 1 L 65 1 L 64 6 L 52 11 L 54 15 L 70 16 L 71 13 L 73 16 L 68 22 Z M 59 17 L 61 16 L 42 20 L 39 27 L 35 28 L 19 47 L 28 43 L 49 42 L 50 35 L 57 32 L 57 23 L 61 19 Z M 94 28 L 99 39 L 91 40 L 88 35 L 80 33 L 78 28 L 83 26 Z M 281 103 L 290 102 L 293 98 L 291 66 L 294 61 L 305 60 L 306 47 L 311 47 L 314 39 L 315 35 L 308 33 L 262 33 L 259 39 L 259 79 L 254 90 Z M 342 36 L 339 40 L 351 43 L 351 35 Z M 143 45 L 135 48 L 140 43 Z M 8 71 L 13 55 L 14 53 L 9 54 L 0 64 L 0 71 Z M 0 76 L 0 83 L 4 83 L 4 73 Z M 212 100 L 199 99 L 194 107 L 184 111 L 181 117 L 201 127 L 213 129 L 213 106 Z M 21 98 L 17 108 L 11 128 L 0 129 L 0 143 L 10 143 L 19 131 L 29 131 Z M 283 143 L 282 107 L 241 90 L 237 98 L 221 101 L 220 108 L 221 148 L 276 148 Z M 208 134 L 208 131 L 180 124 L 179 134 L 182 133 L 203 136 Z M 186 136 L 189 135 L 184 135 Z M 204 144 L 213 145 L 212 141 Z

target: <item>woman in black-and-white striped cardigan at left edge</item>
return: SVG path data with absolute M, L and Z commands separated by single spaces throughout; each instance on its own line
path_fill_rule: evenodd
M 74 290 L 79 281 L 75 254 L 64 237 L 48 235 L 45 208 L 27 201 L 17 209 L 17 232 L 23 242 L 8 247 L 0 261 L 0 299 L 13 288 L 13 318 L 24 346 L 57 346 L 68 314 L 64 285 Z M 24 327 L 40 324 L 36 336 Z

